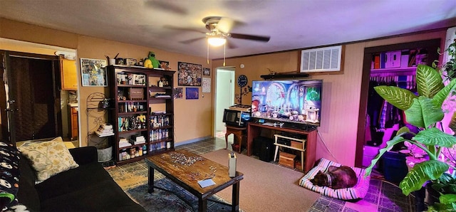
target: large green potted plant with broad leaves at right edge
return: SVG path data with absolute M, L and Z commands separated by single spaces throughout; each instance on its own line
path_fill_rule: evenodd
M 379 150 L 378 155 L 371 161 L 371 165 L 366 168 L 367 176 L 371 174 L 373 166 L 380 157 L 395 144 L 407 141 L 423 149 L 429 159 L 415 164 L 399 184 L 406 196 L 413 191 L 420 190 L 427 181 L 437 181 L 445 171 L 448 171 L 452 165 L 439 160 L 440 152 L 442 149 L 451 148 L 456 144 L 456 137 L 437 128 L 437 123 L 444 117 L 442 104 L 448 94 L 456 88 L 456 79 L 444 85 L 438 70 L 427 65 L 418 65 L 416 81 L 418 95 L 410 90 L 394 86 L 382 85 L 374 88 L 383 99 L 403 110 L 406 121 L 418 127 L 420 132 L 415 134 L 410 132 L 408 127 L 400 128 L 396 136 L 386 143 L 385 148 Z M 411 134 L 413 137 L 405 139 L 406 134 Z M 442 194 L 439 200 L 442 209 L 456 210 L 456 194 Z

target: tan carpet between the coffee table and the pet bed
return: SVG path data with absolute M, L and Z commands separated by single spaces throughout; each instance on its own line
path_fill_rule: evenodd
M 229 152 L 219 149 L 202 157 L 227 166 Z M 308 211 L 321 196 L 299 186 L 304 173 L 244 154 L 237 154 L 237 171 L 244 174 L 239 186 L 239 206 L 245 211 Z M 217 195 L 231 202 L 232 188 Z

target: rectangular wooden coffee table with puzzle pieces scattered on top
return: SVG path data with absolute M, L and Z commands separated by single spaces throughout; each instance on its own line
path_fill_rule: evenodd
M 193 163 L 192 163 L 193 162 Z M 198 211 L 207 211 L 207 200 L 210 196 L 232 186 L 232 211 L 239 211 L 239 181 L 244 179 L 244 174 L 236 171 L 236 176 L 228 176 L 228 167 L 201 157 L 185 149 L 165 152 L 145 158 L 149 166 L 149 187 L 147 192 L 154 189 L 166 189 L 154 186 L 154 170 L 156 169 L 168 179 L 175 182 L 198 198 Z M 228 164 L 228 155 L 227 155 Z M 215 185 L 202 188 L 197 181 L 212 178 Z M 212 200 L 209 200 L 212 201 Z

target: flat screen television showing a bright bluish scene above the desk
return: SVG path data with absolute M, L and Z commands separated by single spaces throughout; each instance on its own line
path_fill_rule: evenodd
M 252 117 L 318 127 L 322 88 L 323 80 L 254 80 Z

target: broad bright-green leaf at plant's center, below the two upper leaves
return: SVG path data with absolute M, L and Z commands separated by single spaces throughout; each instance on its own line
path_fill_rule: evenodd
M 426 128 L 443 119 L 442 108 L 437 107 L 430 98 L 420 96 L 413 99 L 412 106 L 405 110 L 405 119 L 415 127 Z

